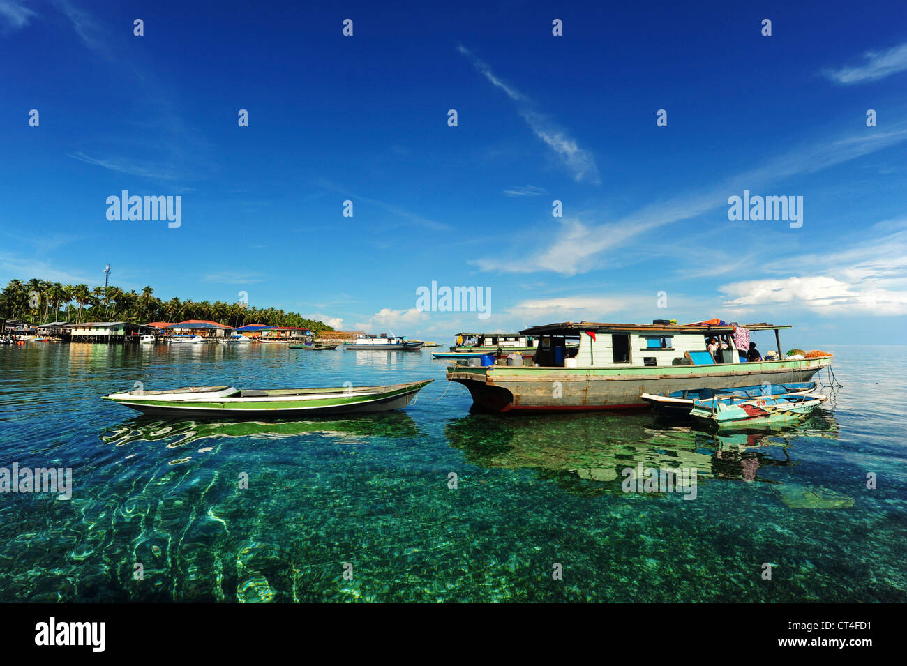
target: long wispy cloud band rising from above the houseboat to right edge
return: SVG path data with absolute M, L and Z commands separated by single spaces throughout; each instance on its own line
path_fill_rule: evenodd
M 814 173 L 907 140 L 907 129 L 857 134 L 837 140 L 822 140 L 790 150 L 756 169 L 750 169 L 705 191 L 684 194 L 651 204 L 604 224 L 580 217 L 563 217 L 560 228 L 541 249 L 529 256 L 482 257 L 471 261 L 485 271 L 533 273 L 551 271 L 561 275 L 588 273 L 610 264 L 609 251 L 628 246 L 638 236 L 658 227 L 727 207 L 727 197 L 744 188 L 755 190 L 767 183 Z

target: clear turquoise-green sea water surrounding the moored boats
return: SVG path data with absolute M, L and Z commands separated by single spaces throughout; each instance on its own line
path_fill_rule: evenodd
M 73 468 L 69 500 L 0 495 L 0 602 L 905 602 L 907 348 L 828 351 L 834 400 L 747 438 L 647 413 L 471 415 L 428 352 L 0 347 L 0 467 Z M 346 420 L 167 421 L 98 400 L 136 381 L 423 378 L 405 412 Z M 640 461 L 697 468 L 696 499 L 623 493 Z

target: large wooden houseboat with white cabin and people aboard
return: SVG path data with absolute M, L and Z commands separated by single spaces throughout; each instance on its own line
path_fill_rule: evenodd
M 745 324 L 774 331 L 777 360 L 746 362 L 731 324 L 552 323 L 520 332 L 538 341 L 532 365 L 448 366 L 477 410 L 570 411 L 647 407 L 643 393 L 731 389 L 761 383 L 809 381 L 831 356 L 785 358 L 779 331 L 790 325 Z M 727 345 L 707 351 L 707 340 Z M 570 343 L 578 344 L 571 347 Z

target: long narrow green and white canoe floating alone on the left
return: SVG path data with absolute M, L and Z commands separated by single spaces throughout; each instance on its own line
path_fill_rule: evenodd
M 270 391 L 201 386 L 170 391 L 111 393 L 103 400 L 159 416 L 292 419 L 321 414 L 401 410 L 432 381 L 411 381 L 391 386 Z

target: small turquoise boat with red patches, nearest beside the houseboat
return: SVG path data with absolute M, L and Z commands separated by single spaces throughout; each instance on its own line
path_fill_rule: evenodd
M 708 426 L 765 426 L 805 419 L 828 397 L 818 395 L 777 395 L 771 398 L 719 397 L 695 401 L 689 415 Z

